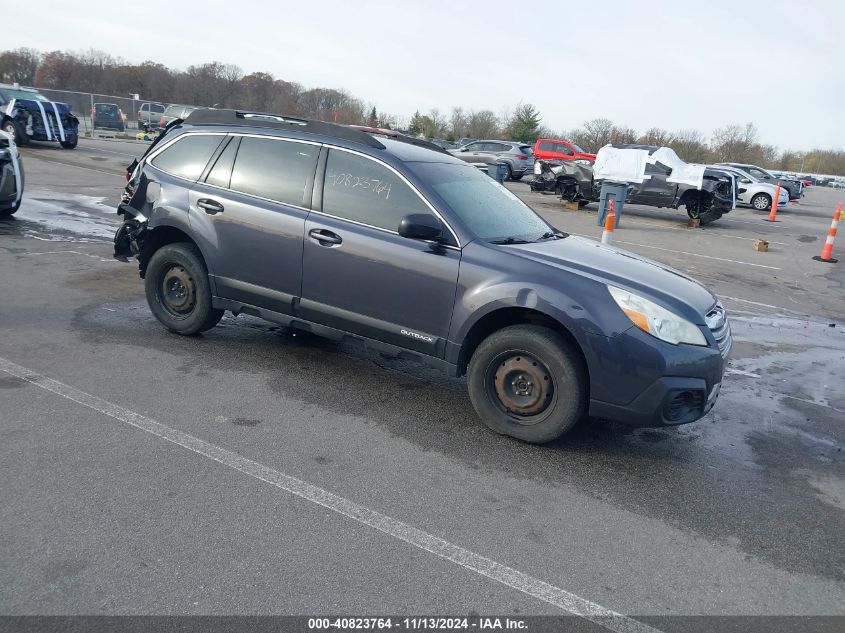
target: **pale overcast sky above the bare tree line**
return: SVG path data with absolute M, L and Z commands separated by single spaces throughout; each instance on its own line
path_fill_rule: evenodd
M 554 130 L 606 117 L 709 138 L 751 121 L 781 149 L 845 148 L 842 0 L 3 4 L 0 49 L 216 60 L 343 88 L 405 120 L 522 101 Z

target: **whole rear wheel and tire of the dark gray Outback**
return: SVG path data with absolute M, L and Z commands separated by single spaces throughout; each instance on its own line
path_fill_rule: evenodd
M 147 303 L 171 332 L 191 336 L 210 330 L 223 318 L 211 305 L 208 269 L 196 246 L 166 244 L 147 264 L 144 277 Z

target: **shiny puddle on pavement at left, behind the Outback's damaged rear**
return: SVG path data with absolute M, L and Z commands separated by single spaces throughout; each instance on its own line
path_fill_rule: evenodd
M 111 241 L 119 222 L 106 198 L 50 191 L 27 191 L 11 218 L 0 220 L 0 235 L 26 235 L 55 242 Z

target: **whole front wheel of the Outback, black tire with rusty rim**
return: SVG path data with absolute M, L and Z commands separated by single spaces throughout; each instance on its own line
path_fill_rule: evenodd
M 469 397 L 484 423 L 532 444 L 560 437 L 584 417 L 587 382 L 581 356 L 560 334 L 538 325 L 494 332 L 475 350 L 467 371 Z

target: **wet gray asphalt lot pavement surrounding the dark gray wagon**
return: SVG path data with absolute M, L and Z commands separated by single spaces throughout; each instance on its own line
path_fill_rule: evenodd
M 811 259 L 837 192 L 777 225 L 626 207 L 618 244 L 724 299 L 720 400 L 677 429 L 589 420 L 536 447 L 488 431 L 462 379 L 246 316 L 165 332 L 109 243 L 142 149 L 24 150 L 0 359 L 619 613 L 845 615 L 845 264 Z M 594 205 L 509 186 L 599 235 Z M 8 371 L 0 477 L 0 613 L 561 613 Z

